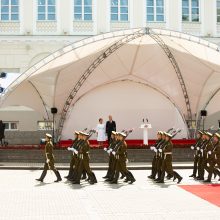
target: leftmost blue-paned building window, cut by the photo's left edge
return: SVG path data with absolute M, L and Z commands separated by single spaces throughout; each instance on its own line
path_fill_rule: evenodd
M 0 0 L 1 21 L 19 20 L 19 0 Z

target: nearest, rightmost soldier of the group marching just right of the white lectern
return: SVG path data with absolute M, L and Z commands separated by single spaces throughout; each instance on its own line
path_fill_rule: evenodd
M 173 171 L 173 166 L 172 166 L 172 150 L 173 150 L 173 143 L 171 142 L 172 135 L 169 133 L 165 133 L 166 135 L 166 144 L 163 149 L 159 149 L 159 151 L 164 153 L 164 159 L 162 162 L 162 173 L 160 180 L 157 181 L 157 183 L 164 183 L 164 177 L 165 177 L 165 172 L 168 173 L 168 175 L 174 176 L 173 181 L 175 179 L 178 179 L 177 183 L 180 183 L 182 181 L 182 177 L 176 172 Z

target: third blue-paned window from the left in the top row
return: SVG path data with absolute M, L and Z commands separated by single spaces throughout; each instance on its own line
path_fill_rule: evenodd
M 74 20 L 92 20 L 92 0 L 74 0 Z

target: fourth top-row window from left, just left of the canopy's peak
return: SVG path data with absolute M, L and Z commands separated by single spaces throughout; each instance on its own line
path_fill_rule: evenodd
M 111 21 L 128 21 L 128 0 L 111 0 Z

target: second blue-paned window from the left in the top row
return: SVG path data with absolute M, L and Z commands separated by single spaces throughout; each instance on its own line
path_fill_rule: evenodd
M 38 0 L 37 19 L 39 21 L 55 21 L 56 0 Z

